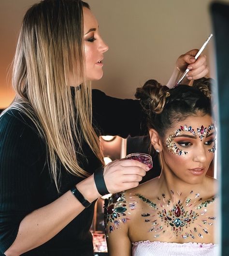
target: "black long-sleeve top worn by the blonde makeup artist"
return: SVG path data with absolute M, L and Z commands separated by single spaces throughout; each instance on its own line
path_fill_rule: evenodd
M 92 90 L 92 104 L 93 125 L 100 135 L 127 137 L 146 132 L 139 101 L 116 99 L 100 90 Z M 101 166 L 100 160 L 86 142 L 83 153 L 84 156 L 78 159 L 80 166 L 93 174 Z M 58 194 L 46 155 L 45 141 L 28 117 L 18 110 L 8 110 L 0 117 L 0 256 L 14 242 L 20 222 L 26 215 L 53 202 L 83 180 L 60 166 Z M 93 256 L 89 229 L 94 205 L 95 202 L 54 238 L 23 256 Z

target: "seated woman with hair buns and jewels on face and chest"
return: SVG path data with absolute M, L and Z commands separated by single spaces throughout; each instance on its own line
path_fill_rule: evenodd
M 109 256 L 216 256 L 217 181 L 206 176 L 216 136 L 210 80 L 170 90 L 149 80 L 137 89 L 162 171 L 109 198 Z

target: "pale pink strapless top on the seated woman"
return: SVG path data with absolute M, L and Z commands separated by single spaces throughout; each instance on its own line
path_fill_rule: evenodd
M 219 246 L 212 243 L 175 243 L 139 241 L 132 243 L 132 256 L 218 256 Z

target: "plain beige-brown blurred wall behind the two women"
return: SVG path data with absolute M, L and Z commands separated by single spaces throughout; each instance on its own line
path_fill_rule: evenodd
M 7 80 L 23 15 L 38 0 L 0 0 L 0 108 L 13 97 Z M 100 33 L 109 45 L 104 76 L 93 88 L 111 96 L 134 98 L 136 87 L 149 78 L 166 84 L 175 60 L 200 48 L 211 30 L 211 0 L 88 0 Z M 227 0 L 229 2 L 229 0 Z M 212 58 L 214 40 L 204 53 Z M 215 77 L 210 62 L 210 75 Z

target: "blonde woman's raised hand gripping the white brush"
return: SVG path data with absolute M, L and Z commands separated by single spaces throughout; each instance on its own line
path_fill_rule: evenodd
M 198 49 L 190 50 L 185 54 L 182 54 L 176 61 L 176 67 L 181 73 L 184 73 L 186 68 L 190 70 L 186 75 L 188 80 L 199 79 L 209 72 L 206 63 L 206 55 L 200 54 L 197 60 L 194 58 L 198 51 Z

